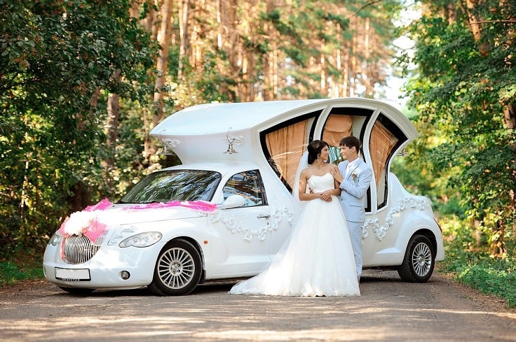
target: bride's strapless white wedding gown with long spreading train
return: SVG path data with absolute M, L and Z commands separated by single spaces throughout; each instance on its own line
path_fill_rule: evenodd
M 311 176 L 314 192 L 334 187 L 330 173 Z M 253 278 L 231 288 L 231 294 L 290 297 L 360 296 L 355 258 L 339 199 L 303 201 L 303 211 L 280 252 Z

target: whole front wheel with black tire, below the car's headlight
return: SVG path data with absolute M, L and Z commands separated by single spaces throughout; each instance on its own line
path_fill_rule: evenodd
M 182 296 L 193 291 L 201 280 L 201 255 L 182 238 L 172 240 L 158 255 L 154 278 L 148 286 L 158 296 Z

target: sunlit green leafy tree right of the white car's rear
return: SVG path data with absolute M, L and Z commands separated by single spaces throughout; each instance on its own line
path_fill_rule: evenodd
M 496 6 L 477 3 L 475 10 L 490 13 L 492 21 L 482 27 L 479 41 L 469 30 L 468 14 L 459 8 L 454 22 L 440 17 L 442 8 L 436 6 L 432 15 L 412 24 L 412 62 L 419 76 L 407 91 L 419 111 L 419 128 L 438 139 L 419 149 L 421 159 L 453 190 L 448 193 L 457 194 L 463 213 L 484 229 L 490 252 L 503 256 L 505 244 L 514 239 L 516 220 L 516 132 L 505 121 L 505 111 L 516 104 L 510 97 L 516 82 L 510 59 L 516 48 L 510 25 L 503 24 L 515 13 Z

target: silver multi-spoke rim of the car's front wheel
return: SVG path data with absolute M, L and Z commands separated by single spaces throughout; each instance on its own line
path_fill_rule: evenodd
M 182 248 L 171 248 L 158 260 L 158 276 L 161 283 L 170 289 L 181 289 L 194 279 L 194 258 Z

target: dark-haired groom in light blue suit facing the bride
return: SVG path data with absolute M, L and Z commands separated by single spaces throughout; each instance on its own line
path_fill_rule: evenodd
M 333 176 L 341 183 L 341 206 L 348 222 L 351 245 L 357 266 L 357 278 L 362 274 L 362 227 L 365 222 L 365 194 L 373 178 L 371 167 L 358 157 L 360 141 L 355 136 L 346 136 L 340 143 L 344 162 L 339 163 L 339 173 Z

